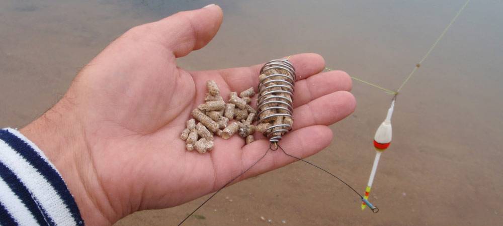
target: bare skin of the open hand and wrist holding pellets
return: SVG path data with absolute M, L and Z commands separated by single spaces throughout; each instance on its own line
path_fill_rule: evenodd
M 110 225 L 138 210 L 167 208 L 213 192 L 257 161 L 264 137 L 245 145 L 215 139 L 206 154 L 185 150 L 179 136 L 190 112 L 204 101 L 206 81 L 221 95 L 257 87 L 261 65 L 186 71 L 176 58 L 204 47 L 222 22 L 218 6 L 181 12 L 132 28 L 74 79 L 65 96 L 21 132 L 44 150 L 75 197 L 88 225 Z M 292 55 L 298 81 L 293 130 L 280 145 L 297 157 L 332 140 L 327 127 L 355 108 L 352 83 L 342 71 L 321 71 L 317 54 Z M 280 151 L 237 181 L 285 166 Z

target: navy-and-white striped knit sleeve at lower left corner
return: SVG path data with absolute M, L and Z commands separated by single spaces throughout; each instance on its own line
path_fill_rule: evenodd
M 84 225 L 63 178 L 17 130 L 0 130 L 0 225 Z

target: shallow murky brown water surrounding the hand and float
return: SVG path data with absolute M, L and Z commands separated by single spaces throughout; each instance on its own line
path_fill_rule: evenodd
M 464 1 L 0 2 L 0 127 L 23 127 L 65 92 L 77 71 L 130 27 L 217 3 L 218 35 L 180 60 L 188 69 L 244 66 L 316 52 L 327 67 L 396 89 Z M 295 163 L 233 185 L 187 225 L 496 225 L 503 220 L 503 2 L 472 1 L 402 89 L 393 144 L 360 210 L 343 184 Z M 250 48 L 253 46 L 253 48 Z M 354 81 L 358 107 L 331 126 L 332 144 L 309 160 L 363 191 L 372 137 L 391 96 Z M 499 173 L 498 173 L 499 172 Z M 226 198 L 228 197 L 228 198 Z M 233 201 L 230 202 L 229 200 Z M 172 225 L 202 199 L 135 213 L 117 225 Z

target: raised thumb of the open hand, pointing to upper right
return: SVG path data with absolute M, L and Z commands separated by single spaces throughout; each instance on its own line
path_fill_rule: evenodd
M 128 36 L 153 41 L 171 50 L 176 57 L 183 57 L 208 44 L 220 28 L 222 19 L 222 9 L 215 5 L 140 25 L 131 29 Z

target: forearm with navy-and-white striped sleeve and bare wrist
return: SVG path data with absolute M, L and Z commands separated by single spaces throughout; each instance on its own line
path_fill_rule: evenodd
M 20 131 L 0 131 L 1 225 L 110 225 L 120 218 L 103 201 L 83 130 L 63 101 Z

